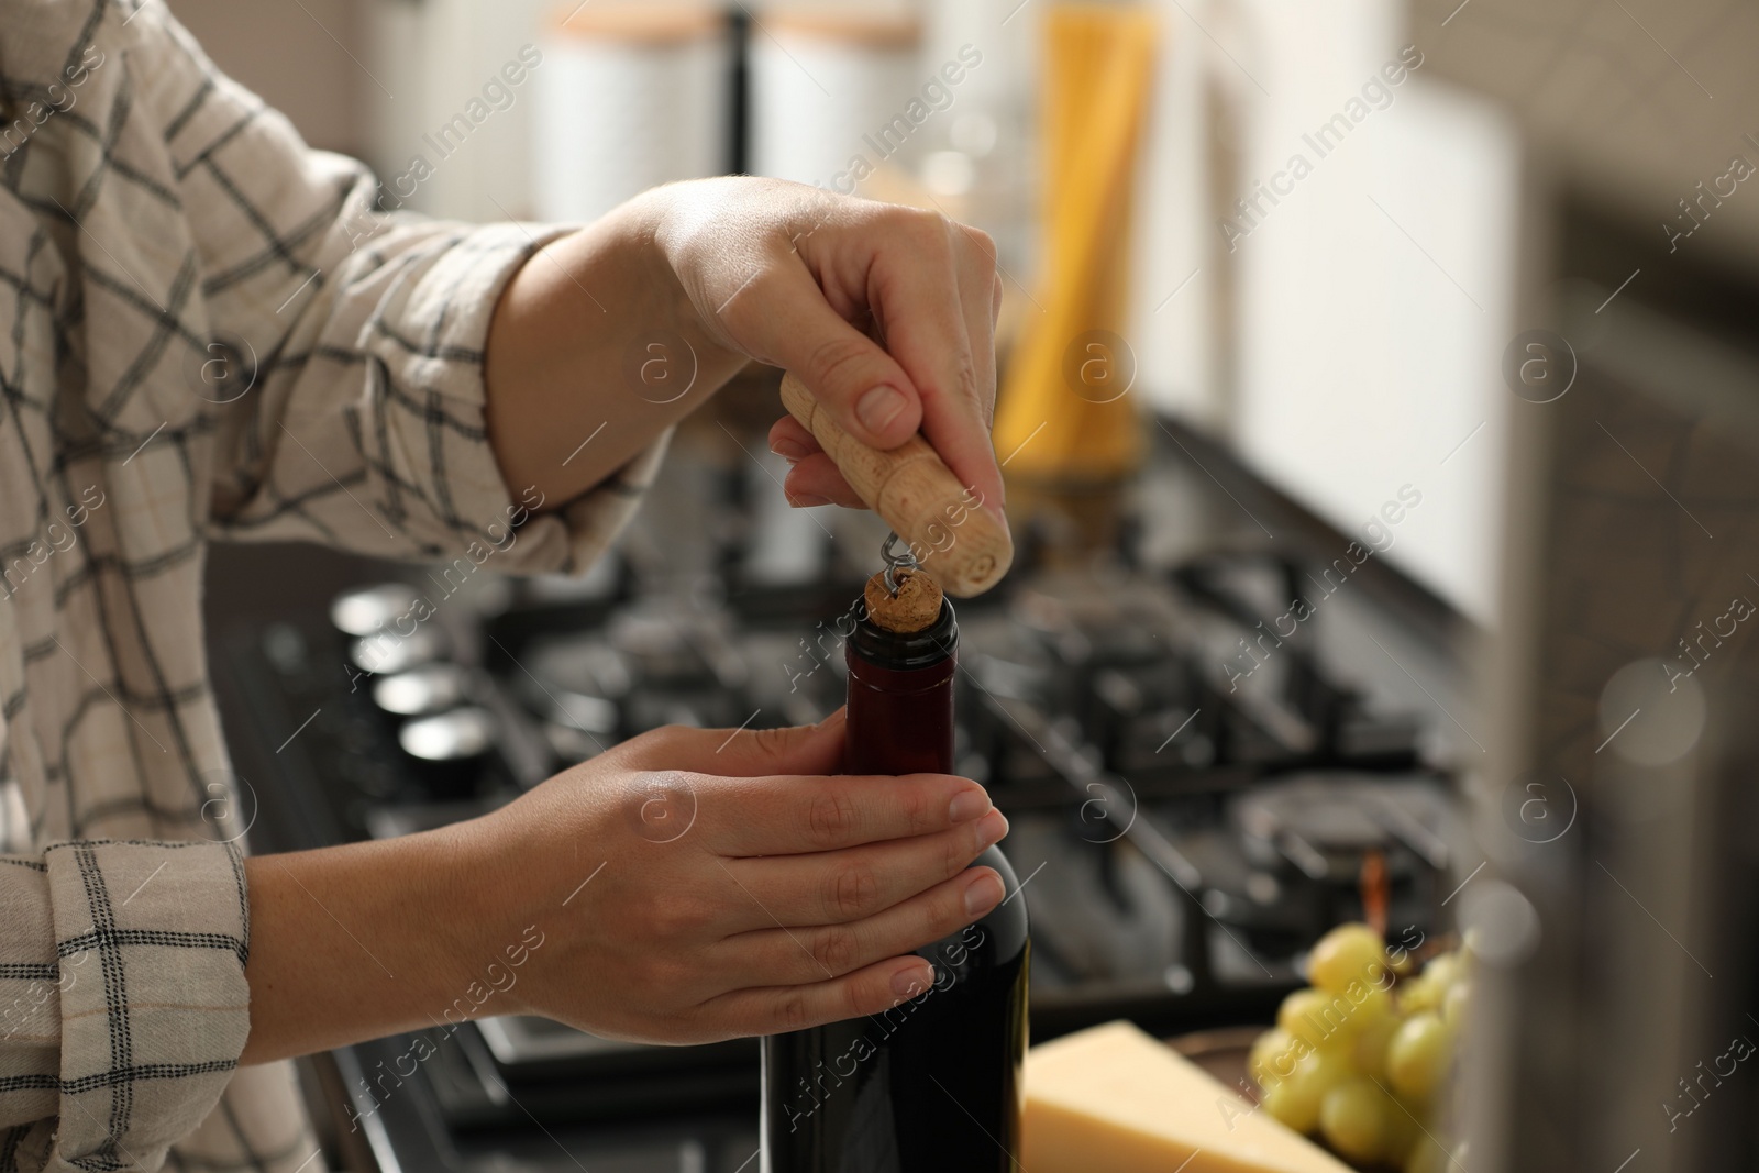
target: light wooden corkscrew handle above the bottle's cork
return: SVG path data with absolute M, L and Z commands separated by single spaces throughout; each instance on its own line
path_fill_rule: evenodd
M 983 499 L 959 484 L 922 434 L 890 452 L 871 448 L 830 419 L 792 373 L 781 376 L 781 401 L 836 463 L 867 508 L 909 543 L 941 589 L 971 598 L 996 586 L 1013 565 L 1008 526 Z

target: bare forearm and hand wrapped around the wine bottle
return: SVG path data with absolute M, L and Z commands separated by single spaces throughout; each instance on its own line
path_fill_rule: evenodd
M 535 1013 L 704 1043 L 880 1013 L 989 913 L 1008 823 L 971 781 L 828 777 L 843 714 L 663 728 L 477 820 L 246 860 L 243 1062 Z

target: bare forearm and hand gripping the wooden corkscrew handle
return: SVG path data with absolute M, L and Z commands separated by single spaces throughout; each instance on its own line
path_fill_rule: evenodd
M 876 448 L 920 429 L 1001 517 L 994 257 L 941 215 L 799 183 L 646 192 L 545 244 L 501 294 L 484 368 L 501 475 L 568 501 L 758 359 Z M 860 505 L 792 417 L 770 445 L 793 461 L 790 501 Z

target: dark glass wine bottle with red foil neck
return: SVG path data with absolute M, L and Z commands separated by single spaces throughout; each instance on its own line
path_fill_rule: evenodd
M 850 774 L 950 774 L 959 628 L 952 603 L 897 635 L 865 608 L 848 642 Z M 767 1173 L 1008 1173 L 1020 1150 L 1027 925 L 999 848 L 1008 897 L 989 916 L 918 950 L 934 987 L 850 1022 L 763 1039 Z

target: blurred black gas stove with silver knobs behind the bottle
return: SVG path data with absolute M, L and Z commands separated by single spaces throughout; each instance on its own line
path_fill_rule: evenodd
M 1265 637 L 1298 573 L 1263 550 L 1025 568 L 957 603 L 957 761 L 1013 828 L 1034 1039 L 1117 1016 L 1163 1034 L 1268 1022 L 1330 925 L 1441 927 L 1449 779 L 1423 719 L 1370 703 L 1307 633 Z M 227 665 L 255 728 L 234 737 L 273 740 L 315 714 L 253 786 L 281 828 L 273 846 L 408 834 L 661 725 L 821 719 L 844 693 L 858 591 L 836 566 L 777 584 L 723 561 L 656 580 L 616 556 L 579 582 L 443 598 L 415 573 L 236 638 Z M 417 600 L 431 617 L 399 623 Z M 336 1053 L 336 1108 L 382 1168 L 593 1154 L 595 1169 L 730 1173 L 756 1145 L 755 1041 L 656 1048 L 489 1018 L 436 1036 L 387 1094 L 375 1073 L 408 1046 Z

